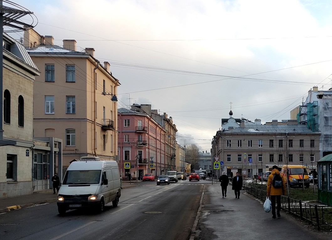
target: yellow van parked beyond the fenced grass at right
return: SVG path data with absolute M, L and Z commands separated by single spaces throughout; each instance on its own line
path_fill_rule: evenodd
M 287 180 L 288 173 L 288 180 Z M 309 174 L 307 168 L 302 165 L 284 165 L 281 168 L 280 174 L 283 176 L 286 185 L 289 184 L 290 187 L 299 186 L 302 187 L 304 183 L 305 187 L 308 188 L 310 185 Z

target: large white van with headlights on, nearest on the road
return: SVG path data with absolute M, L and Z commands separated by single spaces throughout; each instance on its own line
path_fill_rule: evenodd
M 110 202 L 117 207 L 121 197 L 118 163 L 91 157 L 80 160 L 72 162 L 63 177 L 57 200 L 59 214 L 81 208 L 102 212 Z

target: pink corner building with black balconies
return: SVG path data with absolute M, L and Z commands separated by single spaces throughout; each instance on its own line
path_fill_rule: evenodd
M 118 109 L 119 169 L 123 177 L 130 173 L 140 178 L 146 173 L 166 173 L 166 130 L 146 113 Z M 130 168 L 128 163 L 130 163 Z

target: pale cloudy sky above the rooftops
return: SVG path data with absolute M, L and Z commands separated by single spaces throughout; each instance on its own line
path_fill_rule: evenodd
M 15 3 L 54 44 L 75 39 L 111 64 L 118 108 L 151 104 L 172 117 L 179 144 L 207 153 L 230 110 L 262 123 L 288 120 L 313 86 L 332 87 L 331 0 Z

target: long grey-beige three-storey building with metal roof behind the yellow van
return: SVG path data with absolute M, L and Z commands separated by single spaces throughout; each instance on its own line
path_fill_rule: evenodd
M 296 120 L 283 120 L 246 125 L 236 122 L 230 114 L 227 128 L 222 126 L 212 140 L 212 155 L 224 165 L 221 170 L 239 171 L 244 176 L 262 175 L 273 165 L 303 165 L 316 169 L 319 160 L 320 132 L 312 132 Z

